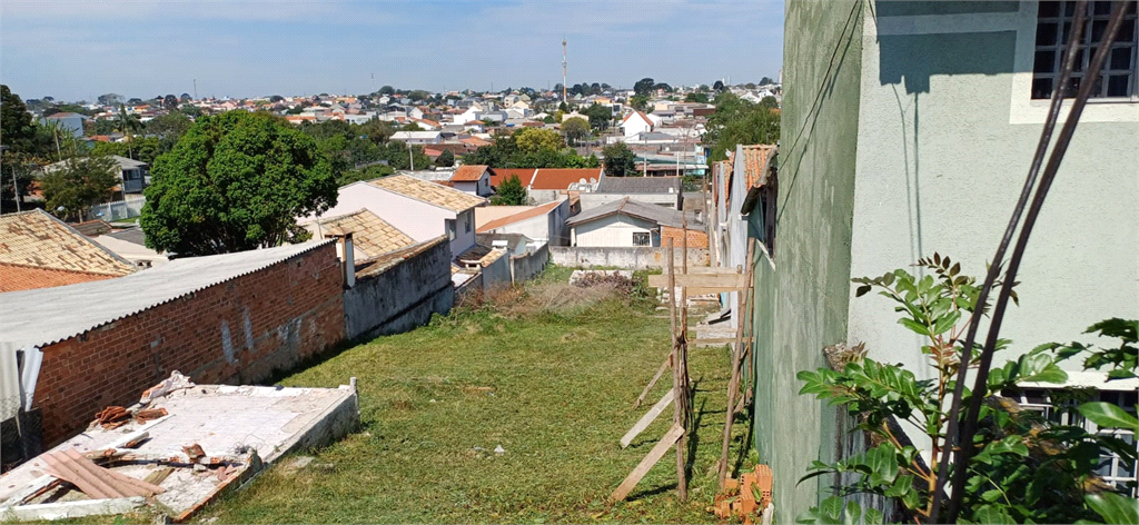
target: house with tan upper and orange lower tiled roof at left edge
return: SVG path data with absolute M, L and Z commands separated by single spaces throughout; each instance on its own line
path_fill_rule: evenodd
M 0 215 L 0 292 L 123 277 L 134 265 L 42 210 Z

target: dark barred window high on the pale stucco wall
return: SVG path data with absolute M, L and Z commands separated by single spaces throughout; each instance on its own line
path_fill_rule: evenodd
M 1084 72 L 1088 64 L 1099 49 L 1112 17 L 1112 9 L 1117 2 L 1088 2 L 1083 32 L 1077 46 L 1072 77 L 1064 87 L 1064 97 L 1075 97 L 1080 84 L 1085 82 Z M 1115 35 L 1115 42 L 1104 61 L 1104 68 L 1093 81 L 1092 97 L 1131 97 L 1139 92 L 1139 74 L 1137 74 L 1137 55 L 1139 55 L 1139 22 L 1137 22 L 1136 5 L 1128 1 L 1123 25 Z M 1036 48 L 1032 68 L 1032 98 L 1047 99 L 1052 96 L 1054 84 L 1064 65 L 1064 47 L 1067 46 L 1075 20 L 1076 2 L 1041 2 L 1036 19 Z

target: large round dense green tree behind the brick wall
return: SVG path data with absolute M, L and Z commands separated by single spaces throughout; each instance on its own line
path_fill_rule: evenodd
M 336 204 L 313 139 L 265 113 L 200 118 L 150 173 L 139 221 L 147 246 L 183 255 L 294 240 L 297 216 Z

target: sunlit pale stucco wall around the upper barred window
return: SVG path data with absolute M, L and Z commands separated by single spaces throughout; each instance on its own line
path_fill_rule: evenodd
M 1035 3 L 1022 2 L 1011 14 L 891 17 L 879 34 L 867 16 L 852 277 L 910 268 L 937 252 L 983 278 L 1042 128 L 1030 107 L 1040 101 L 1029 101 L 1035 18 Z M 906 36 L 915 33 L 923 36 Z M 903 47 L 912 60 L 954 74 L 933 74 L 925 89 L 923 79 L 890 81 L 883 69 L 921 69 L 883 65 L 904 56 Z M 1001 331 L 1013 352 L 998 362 L 1046 342 L 1090 342 L 1083 330 L 1103 319 L 1139 318 L 1137 112 L 1136 101 L 1089 104 L 1021 266 L 1021 305 L 1009 306 Z M 893 306 L 852 294 L 849 341 L 928 377 L 919 338 L 896 325 Z

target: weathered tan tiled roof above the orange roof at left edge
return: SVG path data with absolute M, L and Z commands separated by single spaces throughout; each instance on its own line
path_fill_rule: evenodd
M 134 271 L 130 262 L 42 210 L 0 216 L 0 262 L 112 277 Z

